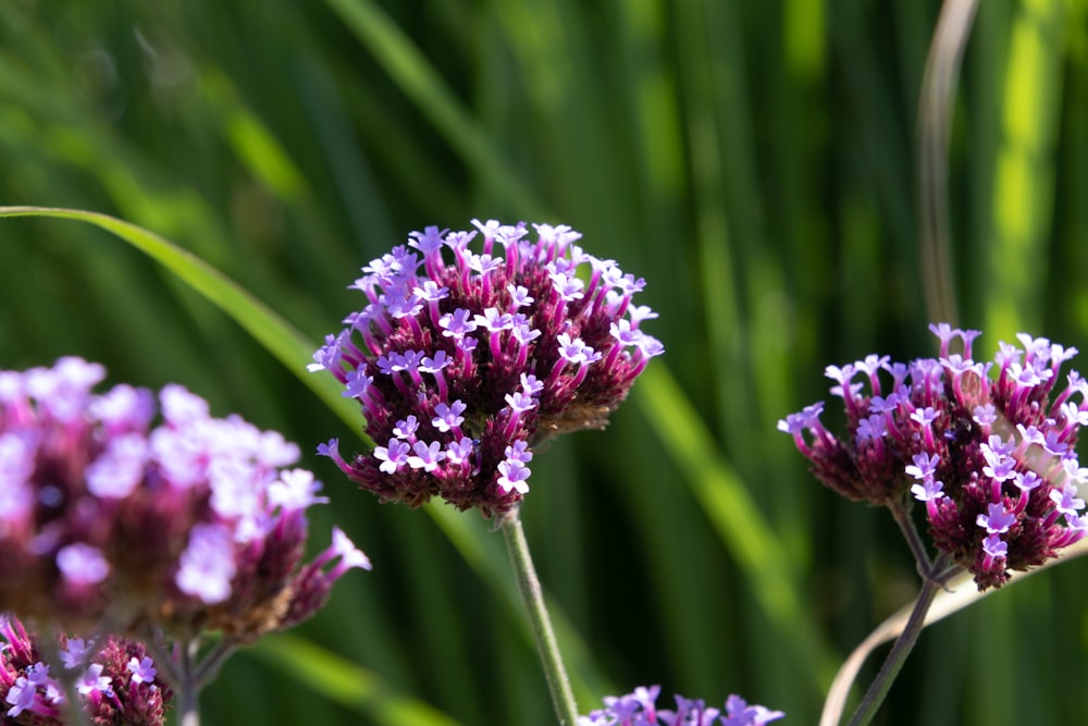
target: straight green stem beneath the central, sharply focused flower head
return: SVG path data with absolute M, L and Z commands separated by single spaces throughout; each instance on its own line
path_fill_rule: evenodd
M 552 619 L 544 605 L 544 593 L 536 577 L 536 568 L 533 567 L 533 558 L 529 554 L 529 543 L 526 541 L 526 531 L 521 527 L 518 509 L 507 514 L 500 526 L 506 538 L 506 549 L 510 553 L 510 562 L 514 563 L 514 569 L 518 574 L 518 589 L 529 611 L 529 625 L 533 631 L 533 640 L 536 641 L 541 663 L 544 665 L 544 675 L 552 692 L 555 713 L 559 717 L 560 726 L 574 726 L 578 723 L 578 705 L 574 703 L 570 679 L 567 677 L 567 669 L 562 665 L 562 656 L 555 641 Z

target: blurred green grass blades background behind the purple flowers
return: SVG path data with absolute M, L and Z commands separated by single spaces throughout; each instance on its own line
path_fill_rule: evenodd
M 1088 347 L 1088 2 L 987 0 L 950 168 L 961 322 Z M 776 421 L 823 369 L 935 352 L 917 99 L 939 3 L 163 0 L 0 3 L 0 204 L 112 213 L 319 341 L 428 224 L 567 223 L 644 276 L 654 360 L 605 432 L 533 465 L 523 517 L 583 711 L 660 684 L 816 722 L 833 668 L 916 590 L 887 513 L 839 501 Z M 81 355 L 178 381 L 301 444 L 374 562 L 235 655 L 209 725 L 554 723 L 502 537 L 382 506 L 318 443 L 351 430 L 119 239 L 0 221 L 0 366 Z M 361 446 L 361 444 L 359 444 Z M 1076 723 L 1088 565 L 923 633 L 885 724 Z M 881 651 L 882 654 L 882 651 Z M 875 659 L 866 670 L 871 677 Z

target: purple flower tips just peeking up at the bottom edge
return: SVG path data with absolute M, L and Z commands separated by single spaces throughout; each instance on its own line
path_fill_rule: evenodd
M 724 709 L 677 696 L 675 710 L 659 710 L 655 702 L 660 691 L 660 686 L 640 686 L 627 696 L 605 697 L 605 707 L 579 716 L 578 726 L 761 726 L 786 715 L 762 705 L 749 705 L 739 696 L 726 699 Z

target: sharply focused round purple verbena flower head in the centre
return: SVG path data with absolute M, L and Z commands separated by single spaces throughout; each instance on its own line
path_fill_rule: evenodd
M 643 280 L 583 253 L 579 233 L 472 223 L 412 232 L 362 268 L 366 306 L 310 370 L 331 371 L 367 419 L 369 454 L 319 450 L 349 478 L 383 501 L 441 496 L 490 517 L 529 491 L 533 447 L 603 428 L 663 347 L 640 329 L 656 313 L 631 305 Z

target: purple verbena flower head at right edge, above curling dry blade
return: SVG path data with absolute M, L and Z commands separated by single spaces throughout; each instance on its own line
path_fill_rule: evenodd
M 910 365 L 868 356 L 828 366 L 843 399 L 846 435 L 819 420 L 824 404 L 778 422 L 826 485 L 852 500 L 925 504 L 937 547 L 969 569 L 980 590 L 1010 570 L 1054 557 L 1088 529 L 1078 488 L 1088 478 L 1075 445 L 1088 421 L 1088 383 L 1060 383 L 1075 348 L 1017 335 L 992 361 L 972 359 L 977 331 L 930 325 L 937 358 Z M 961 353 L 952 353 L 960 341 Z M 1056 395 L 1055 395 L 1056 392 Z

